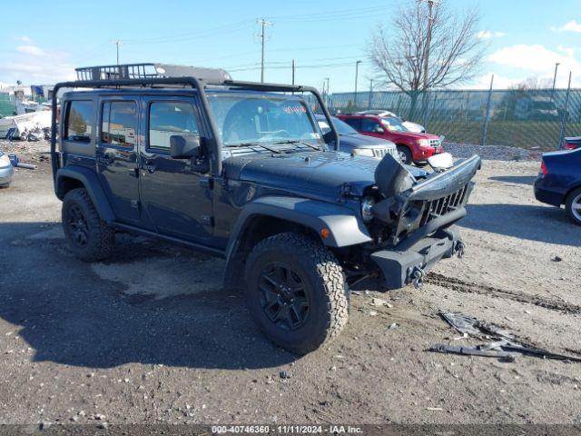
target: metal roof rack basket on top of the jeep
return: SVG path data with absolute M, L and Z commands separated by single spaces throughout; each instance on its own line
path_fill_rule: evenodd
M 75 68 L 78 80 L 153 79 L 167 77 L 196 77 L 207 82 L 225 82 L 231 75 L 222 68 L 175 64 L 95 65 Z

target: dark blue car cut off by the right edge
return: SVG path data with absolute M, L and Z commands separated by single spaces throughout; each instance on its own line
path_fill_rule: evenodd
M 535 197 L 557 207 L 565 204 L 569 219 L 581 225 L 581 148 L 543 154 Z

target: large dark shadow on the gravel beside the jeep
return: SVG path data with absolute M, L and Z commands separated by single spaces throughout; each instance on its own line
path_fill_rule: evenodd
M 240 292 L 222 289 L 220 277 L 206 287 L 193 283 L 196 265 L 212 259 L 122 236 L 113 258 L 99 270 L 74 258 L 59 231 L 60 224 L 54 223 L 0 223 L 0 245 L 5 247 L 0 251 L 0 318 L 15 324 L 16 334 L 34 349 L 34 361 L 91 368 L 140 362 L 235 370 L 297 359 L 262 336 Z M 163 287 L 169 275 L 165 271 L 157 282 L 160 266 L 181 280 L 166 284 L 162 294 L 170 296 L 135 289 Z M 146 280 L 140 282 L 140 273 Z M 195 293 L 181 293 L 189 282 Z M 186 289 L 169 292 L 175 283 L 186 283 Z

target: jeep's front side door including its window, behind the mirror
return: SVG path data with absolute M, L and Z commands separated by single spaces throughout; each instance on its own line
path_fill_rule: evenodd
M 144 97 L 142 114 L 146 120 L 140 173 L 143 210 L 158 233 L 203 242 L 213 233 L 209 174 L 201 172 L 195 159 L 170 155 L 172 135 L 201 136 L 197 100 Z

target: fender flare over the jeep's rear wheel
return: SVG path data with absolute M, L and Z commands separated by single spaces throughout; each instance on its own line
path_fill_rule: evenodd
M 115 221 L 113 208 L 111 207 L 109 200 L 107 200 L 107 196 L 103 191 L 103 186 L 101 185 L 99 177 L 94 173 L 94 171 L 78 165 L 67 165 L 64 168 L 59 169 L 56 172 L 54 191 L 56 196 L 61 200 L 64 198 L 64 193 L 62 193 L 62 181 L 65 177 L 83 183 L 84 189 L 86 189 L 89 197 L 91 197 L 94 208 L 105 223 L 113 223 L 113 221 Z

